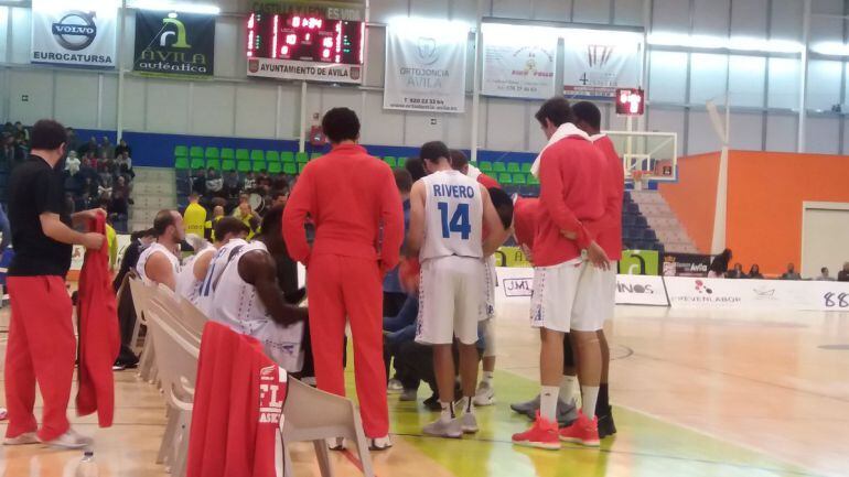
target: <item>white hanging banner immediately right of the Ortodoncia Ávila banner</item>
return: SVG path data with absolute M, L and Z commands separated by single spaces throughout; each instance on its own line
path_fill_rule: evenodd
M 558 31 L 546 26 L 484 23 L 484 95 L 548 99 L 555 95 Z

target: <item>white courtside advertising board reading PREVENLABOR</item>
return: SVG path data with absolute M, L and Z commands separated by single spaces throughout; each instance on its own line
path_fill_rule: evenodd
M 673 307 L 849 312 L 849 283 L 667 277 Z

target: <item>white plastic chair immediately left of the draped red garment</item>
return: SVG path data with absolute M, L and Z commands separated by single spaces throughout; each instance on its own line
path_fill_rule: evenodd
M 172 326 L 174 316 L 160 316 L 150 311 L 148 328 L 157 344 L 157 361 L 161 369 L 162 389 L 170 416 L 157 458 L 168 463 L 174 476 L 185 475 L 189 455 L 189 433 L 192 426 L 194 388 L 197 380 L 200 348 L 186 340 Z

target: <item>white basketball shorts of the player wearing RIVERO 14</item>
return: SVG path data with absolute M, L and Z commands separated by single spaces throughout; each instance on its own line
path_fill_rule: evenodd
M 440 257 L 421 264 L 416 342 L 464 345 L 477 342 L 477 323 L 486 317 L 484 264 L 479 258 Z

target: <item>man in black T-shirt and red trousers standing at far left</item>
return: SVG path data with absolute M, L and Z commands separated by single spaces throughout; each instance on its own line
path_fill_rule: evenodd
M 96 217 L 88 210 L 67 214 L 61 171 L 65 128 L 41 120 L 32 129 L 29 160 L 9 181 L 9 221 L 14 259 L 9 267 L 12 317 L 6 349 L 7 445 L 36 444 L 79 448 L 90 440 L 67 420 L 76 342 L 72 305 L 65 289 L 72 245 L 99 250 L 100 234 L 80 234 L 72 224 Z M 44 400 L 41 429 L 33 414 L 35 383 Z M 37 430 L 37 434 L 36 434 Z

